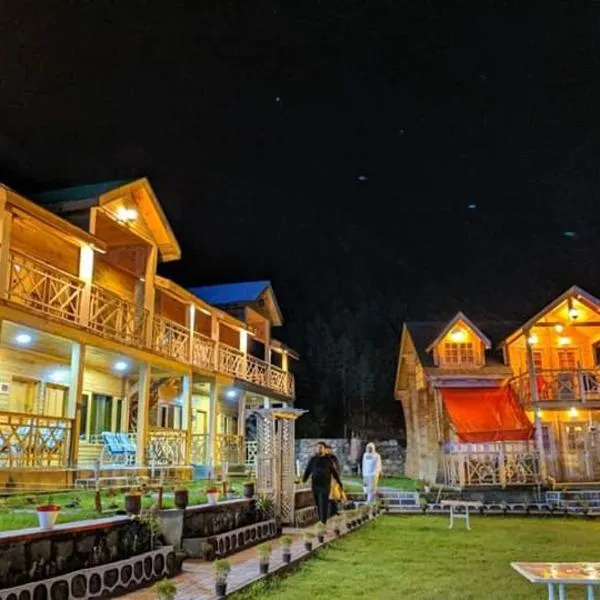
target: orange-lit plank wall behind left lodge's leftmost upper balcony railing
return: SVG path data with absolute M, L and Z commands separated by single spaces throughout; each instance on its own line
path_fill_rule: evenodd
M 11 247 L 72 275 L 79 272 L 79 248 L 59 233 L 50 235 L 31 219 L 20 216 L 14 219 Z

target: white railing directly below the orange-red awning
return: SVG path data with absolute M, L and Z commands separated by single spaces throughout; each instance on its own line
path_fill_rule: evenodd
M 540 482 L 539 455 L 532 442 L 447 445 L 446 484 L 507 486 Z

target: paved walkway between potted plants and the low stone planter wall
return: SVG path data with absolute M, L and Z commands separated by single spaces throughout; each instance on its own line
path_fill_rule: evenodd
M 292 544 L 292 561 L 308 554 L 304 549 L 302 531 L 299 529 L 284 529 L 284 535 L 294 538 Z M 328 532 L 325 541 L 332 539 Z M 272 540 L 273 553 L 271 555 L 269 570 L 276 571 L 283 566 L 281 547 L 279 540 Z M 318 546 L 315 538 L 313 547 Z M 227 560 L 231 563 L 231 573 L 227 578 L 227 592 L 233 593 L 237 589 L 248 585 L 252 581 L 258 581 L 261 576 L 258 572 L 258 556 L 256 547 L 247 548 L 237 554 L 229 556 Z M 186 560 L 183 563 L 183 572 L 173 578 L 177 585 L 176 600 L 214 600 L 215 575 L 214 567 L 210 562 L 201 560 Z M 122 596 L 126 600 L 156 600 L 156 594 L 152 588 L 144 588 Z

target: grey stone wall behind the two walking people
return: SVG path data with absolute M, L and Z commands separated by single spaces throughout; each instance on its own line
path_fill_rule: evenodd
M 299 439 L 296 440 L 296 459 L 300 462 L 301 475 L 313 455 L 315 444 L 319 441 L 326 442 L 333 447 L 333 451 L 342 465 L 343 473 L 347 475 L 357 473 L 357 468 L 360 469 L 361 458 L 367 445 L 366 440 L 358 438 L 353 438 L 351 441 L 346 439 Z M 381 455 L 384 475 L 404 474 L 406 450 L 398 440 L 369 441 L 375 444 Z

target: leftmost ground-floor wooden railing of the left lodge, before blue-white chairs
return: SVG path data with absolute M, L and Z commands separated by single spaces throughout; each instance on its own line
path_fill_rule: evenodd
M 72 427 L 72 419 L 0 412 L 0 467 L 67 467 Z

